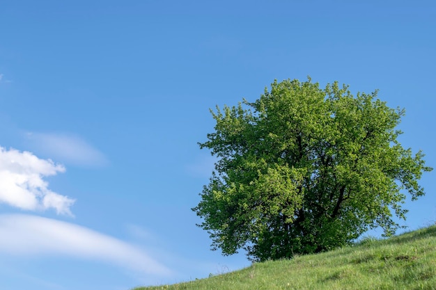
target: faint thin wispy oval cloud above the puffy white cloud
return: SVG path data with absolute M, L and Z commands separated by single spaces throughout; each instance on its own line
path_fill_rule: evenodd
M 31 147 L 54 160 L 76 166 L 103 166 L 106 157 L 79 136 L 72 134 L 28 133 Z

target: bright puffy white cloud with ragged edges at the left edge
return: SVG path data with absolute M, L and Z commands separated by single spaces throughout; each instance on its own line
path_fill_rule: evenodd
M 43 179 L 58 172 L 65 168 L 51 160 L 0 147 L 0 202 L 32 211 L 52 208 L 57 214 L 72 216 L 70 207 L 75 200 L 50 191 Z

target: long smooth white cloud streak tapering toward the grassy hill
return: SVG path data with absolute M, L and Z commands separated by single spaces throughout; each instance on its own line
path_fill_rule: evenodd
M 117 264 L 140 273 L 173 273 L 134 245 L 86 227 L 29 215 L 0 215 L 0 252 L 8 255 L 64 255 Z

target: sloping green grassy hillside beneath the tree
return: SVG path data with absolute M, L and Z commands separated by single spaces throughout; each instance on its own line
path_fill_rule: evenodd
M 207 279 L 134 290 L 436 289 L 436 225 L 291 260 L 267 261 Z

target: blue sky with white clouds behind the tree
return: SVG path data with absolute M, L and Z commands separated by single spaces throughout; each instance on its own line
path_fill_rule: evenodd
M 128 290 L 234 271 L 191 210 L 209 108 L 277 79 L 405 108 L 436 167 L 434 1 L 0 0 L 0 289 Z M 405 203 L 436 221 L 435 172 Z

